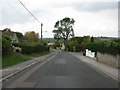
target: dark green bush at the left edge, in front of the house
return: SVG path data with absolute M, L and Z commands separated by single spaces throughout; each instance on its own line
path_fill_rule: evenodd
M 12 52 L 10 37 L 7 35 L 2 35 L 2 55 L 8 55 L 10 52 Z

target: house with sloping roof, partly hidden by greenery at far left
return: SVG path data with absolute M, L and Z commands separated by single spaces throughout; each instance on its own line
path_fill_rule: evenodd
M 9 28 L 2 30 L 2 34 L 10 36 L 12 43 L 19 43 L 19 39 L 15 32 L 11 31 Z

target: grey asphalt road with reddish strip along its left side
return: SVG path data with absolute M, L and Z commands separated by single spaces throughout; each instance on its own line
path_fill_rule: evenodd
M 58 51 L 3 83 L 3 88 L 117 88 L 118 82 Z

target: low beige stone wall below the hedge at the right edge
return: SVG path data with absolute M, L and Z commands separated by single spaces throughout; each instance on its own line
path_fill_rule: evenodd
M 120 58 L 119 55 L 115 56 L 112 54 L 102 54 L 100 52 L 97 53 L 97 61 L 98 62 L 108 64 L 108 65 L 110 65 L 112 67 L 116 67 L 116 68 L 119 67 L 118 66 L 118 63 L 120 63 L 120 62 L 118 62 L 118 61 L 120 61 L 119 58 Z

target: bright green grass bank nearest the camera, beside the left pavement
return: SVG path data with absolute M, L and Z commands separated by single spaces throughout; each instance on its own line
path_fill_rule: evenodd
M 7 56 L 2 57 L 2 68 L 7 68 L 15 64 L 19 64 L 25 61 L 30 60 L 30 57 L 27 57 L 20 53 L 11 53 Z

